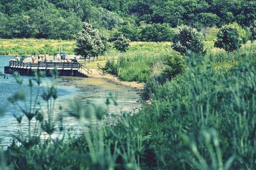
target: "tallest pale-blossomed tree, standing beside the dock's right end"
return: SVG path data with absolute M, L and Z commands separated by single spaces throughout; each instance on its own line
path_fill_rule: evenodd
M 98 57 L 106 51 L 106 41 L 97 29 L 93 29 L 91 24 L 83 23 L 83 30 L 76 38 L 77 55 L 84 57 Z

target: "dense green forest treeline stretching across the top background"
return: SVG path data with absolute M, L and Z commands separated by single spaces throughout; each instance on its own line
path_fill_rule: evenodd
M 112 38 L 170 41 L 179 25 L 249 27 L 255 19 L 256 2 L 246 0 L 3 0 L 0 38 L 73 39 L 89 22 Z

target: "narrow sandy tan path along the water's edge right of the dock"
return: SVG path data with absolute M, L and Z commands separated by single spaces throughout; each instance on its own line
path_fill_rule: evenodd
M 144 87 L 144 83 L 138 83 L 136 81 L 121 81 L 118 79 L 117 76 L 113 76 L 112 74 L 100 74 L 99 71 L 97 69 L 92 69 L 92 75 L 90 75 L 90 77 L 93 78 L 104 78 L 106 80 L 112 81 L 113 83 L 117 83 L 119 85 L 124 85 L 127 87 L 132 87 L 134 89 L 138 89 L 138 90 L 143 90 Z

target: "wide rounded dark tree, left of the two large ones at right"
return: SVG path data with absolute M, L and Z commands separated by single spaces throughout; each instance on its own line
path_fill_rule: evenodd
M 204 53 L 203 36 L 196 29 L 182 25 L 177 28 L 173 36 L 172 48 L 180 53 L 186 53 L 188 50 L 194 53 Z

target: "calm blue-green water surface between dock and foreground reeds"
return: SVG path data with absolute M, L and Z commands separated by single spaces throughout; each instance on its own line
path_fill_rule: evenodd
M 4 66 L 8 65 L 8 61 L 12 58 L 0 57 L 0 72 L 4 72 Z M 17 131 L 20 129 L 17 120 L 13 117 L 13 113 L 17 113 L 17 111 L 8 103 L 7 98 L 19 90 L 29 92 L 27 86 L 28 80 L 31 77 L 22 76 L 22 78 L 24 79 L 22 87 L 17 85 L 12 75 L 8 75 L 8 79 L 0 78 L 0 108 L 6 107 L 6 112 L 3 117 L 0 117 L 0 140 L 1 145 L 4 147 L 10 145 L 13 135 L 17 134 Z M 47 89 L 51 84 L 51 78 L 45 78 L 41 91 Z M 104 106 L 106 97 L 109 96 L 110 92 L 116 98 L 118 106 L 110 106 L 109 111 L 120 115 L 122 111 L 132 111 L 140 107 L 140 104 L 137 102 L 140 96 L 136 90 L 109 83 L 107 80 L 99 78 L 58 78 L 56 84 L 58 87 L 56 112 L 58 112 L 60 106 L 67 109 L 72 101 L 79 101 L 84 105 L 90 101 Z M 36 91 L 36 89 L 34 90 Z M 46 107 L 43 101 L 42 106 L 43 109 Z M 55 115 L 57 119 L 58 114 Z M 63 111 L 63 115 L 65 131 L 69 131 L 72 134 L 79 134 L 81 131 L 84 131 L 83 124 L 86 124 L 86 122 L 79 122 L 75 118 L 70 117 L 67 111 Z M 26 131 L 26 123 L 26 121 L 23 121 L 23 126 L 21 127 L 23 131 Z M 58 136 L 58 132 L 53 136 Z

